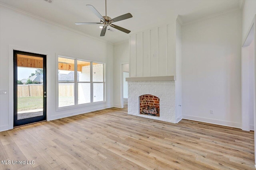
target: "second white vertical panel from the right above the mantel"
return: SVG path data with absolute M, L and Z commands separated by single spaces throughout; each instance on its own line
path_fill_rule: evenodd
M 159 76 L 166 76 L 166 59 L 167 59 L 167 25 L 159 27 L 158 29 L 158 66 L 159 66 Z

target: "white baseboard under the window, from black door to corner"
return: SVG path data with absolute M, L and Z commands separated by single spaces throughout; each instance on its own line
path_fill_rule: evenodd
M 90 109 L 84 109 L 84 110 L 80 110 L 80 111 L 76 111 L 76 112 L 54 115 L 54 116 L 50 117 L 49 121 L 56 120 L 56 119 L 61 119 L 61 118 L 64 118 L 64 117 L 70 117 L 70 116 L 74 116 L 74 115 L 80 115 L 80 114 L 83 114 L 83 113 L 89 113 L 89 112 L 92 112 L 92 111 L 108 109 L 108 108 L 111 108 L 111 107 L 113 107 L 113 105 L 93 107 L 93 108 L 90 108 Z

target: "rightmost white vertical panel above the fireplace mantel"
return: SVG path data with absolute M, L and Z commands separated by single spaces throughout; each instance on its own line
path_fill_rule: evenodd
M 174 24 L 167 25 L 167 75 L 176 75 L 176 43 Z

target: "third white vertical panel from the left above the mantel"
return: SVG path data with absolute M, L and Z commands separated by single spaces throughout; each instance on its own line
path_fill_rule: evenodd
M 150 31 L 143 32 L 143 76 L 150 76 Z

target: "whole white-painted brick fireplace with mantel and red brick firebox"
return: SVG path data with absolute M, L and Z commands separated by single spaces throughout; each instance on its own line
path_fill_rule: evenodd
M 129 77 L 128 114 L 177 123 L 175 77 Z M 161 112 L 161 114 L 160 114 Z

